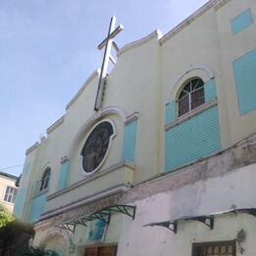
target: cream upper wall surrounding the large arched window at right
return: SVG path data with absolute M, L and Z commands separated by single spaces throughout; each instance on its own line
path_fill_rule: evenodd
M 254 24 L 235 36 L 230 21 L 242 11 L 252 9 Z M 161 83 L 164 103 L 175 99 L 177 79 L 196 65 L 209 67 L 215 75 L 221 126 L 222 148 L 226 149 L 256 132 L 256 110 L 240 115 L 232 71 L 232 61 L 255 48 L 256 2 L 227 1 L 220 9 L 212 8 L 161 46 Z M 194 71 L 193 76 L 200 76 Z M 189 78 L 188 74 L 185 76 Z M 181 85 L 180 85 L 181 86 Z M 175 93 L 174 93 L 174 92 Z M 164 105 L 161 111 L 164 111 Z M 164 125 L 164 120 L 161 120 Z

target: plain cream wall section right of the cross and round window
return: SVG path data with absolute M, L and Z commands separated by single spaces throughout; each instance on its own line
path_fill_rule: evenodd
M 159 140 L 159 51 L 158 34 L 147 43 L 122 53 L 107 77 L 103 106 L 118 105 L 128 114 L 138 111 L 134 183 L 141 182 L 160 169 Z

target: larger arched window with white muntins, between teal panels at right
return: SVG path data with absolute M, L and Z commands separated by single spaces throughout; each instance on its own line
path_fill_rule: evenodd
M 204 82 L 194 78 L 186 82 L 178 96 L 178 116 L 205 103 Z

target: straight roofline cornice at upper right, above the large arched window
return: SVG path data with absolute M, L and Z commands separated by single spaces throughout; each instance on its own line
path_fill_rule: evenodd
M 211 8 L 214 7 L 215 10 L 218 10 L 222 6 L 224 6 L 224 4 L 227 3 L 228 1 L 230 1 L 230 0 L 210 0 L 205 5 L 203 5 L 201 8 L 199 8 L 196 12 L 194 12 L 192 15 L 190 15 L 187 19 L 185 19 L 183 22 L 181 22 L 179 25 L 177 25 L 175 28 L 173 28 L 170 32 L 165 33 L 160 38 L 160 45 L 162 45 L 166 40 L 168 40 L 170 37 L 172 37 L 177 32 L 182 31 L 184 28 L 186 28 L 188 25 L 190 25 L 196 19 L 201 17 L 203 14 L 205 14 Z

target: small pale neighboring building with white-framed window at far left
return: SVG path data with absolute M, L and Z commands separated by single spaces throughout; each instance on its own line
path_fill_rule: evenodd
M 14 175 L 0 171 L 1 204 L 10 213 L 13 212 L 15 199 L 18 192 L 18 187 L 15 184 L 17 179 L 18 177 Z

